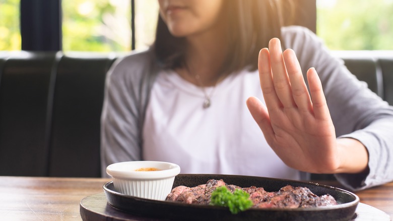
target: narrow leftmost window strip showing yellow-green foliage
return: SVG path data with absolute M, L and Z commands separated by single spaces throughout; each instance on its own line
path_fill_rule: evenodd
M 20 50 L 20 0 L 0 0 L 0 50 Z

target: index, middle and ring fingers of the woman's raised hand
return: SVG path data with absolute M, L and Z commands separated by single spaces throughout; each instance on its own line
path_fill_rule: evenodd
M 295 111 L 299 109 L 302 113 L 311 112 L 311 98 L 292 49 L 283 53 L 280 40 L 273 38 L 269 49 L 260 51 L 258 63 L 261 88 L 269 110 L 281 106 Z

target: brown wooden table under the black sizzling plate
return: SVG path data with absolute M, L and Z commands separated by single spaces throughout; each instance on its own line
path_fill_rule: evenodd
M 2 220 L 82 220 L 80 201 L 102 193 L 102 186 L 108 181 L 101 178 L 0 177 L 0 217 Z M 335 186 L 335 183 L 328 184 Z M 356 194 L 360 202 L 393 218 L 393 182 Z

